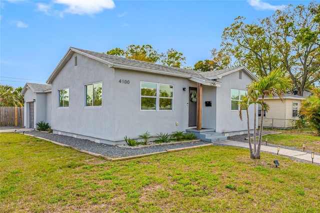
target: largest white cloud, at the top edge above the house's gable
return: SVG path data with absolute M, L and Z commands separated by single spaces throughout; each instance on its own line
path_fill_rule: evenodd
M 67 6 L 64 12 L 72 14 L 94 14 L 103 9 L 112 9 L 115 7 L 113 0 L 54 0 L 54 3 Z

